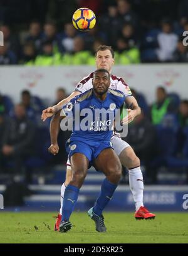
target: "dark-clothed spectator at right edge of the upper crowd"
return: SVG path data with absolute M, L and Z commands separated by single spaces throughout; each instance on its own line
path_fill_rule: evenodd
M 188 46 L 183 45 L 183 38 L 177 43 L 177 48 L 174 52 L 174 61 L 175 62 L 188 62 Z

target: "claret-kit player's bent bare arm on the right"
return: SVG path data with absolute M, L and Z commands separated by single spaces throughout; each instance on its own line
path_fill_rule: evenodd
M 130 122 L 137 117 L 137 115 L 140 115 L 141 109 L 138 106 L 138 102 L 133 96 L 128 96 L 125 98 L 125 102 L 128 105 L 128 115 L 123 118 L 122 122 L 123 124 L 129 124 Z

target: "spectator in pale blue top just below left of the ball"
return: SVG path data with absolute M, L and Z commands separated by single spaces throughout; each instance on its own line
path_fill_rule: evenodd
M 74 50 L 74 38 L 77 32 L 72 23 L 65 24 L 65 30 L 58 35 L 58 46 L 61 53 L 71 53 Z

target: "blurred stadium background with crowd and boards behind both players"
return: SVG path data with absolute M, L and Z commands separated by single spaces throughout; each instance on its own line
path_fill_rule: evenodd
M 83 6 L 95 12 L 97 26 L 78 33 L 71 16 Z M 113 73 L 124 78 L 143 110 L 125 139 L 142 163 L 145 205 L 151 211 L 187 210 L 188 51 L 182 43 L 187 13 L 184 0 L 1 1 L 0 193 L 5 210 L 58 210 L 70 133 L 60 132 L 60 153 L 50 156 L 50 121 L 41 122 L 41 110 L 69 95 L 95 69 L 94 52 L 101 44 L 115 49 Z M 154 104 L 166 100 L 162 119 L 154 120 Z M 24 139 L 19 137 L 23 146 L 16 129 L 8 133 L 20 102 L 26 105 L 29 125 Z M 8 141 L 19 154 L 4 154 Z M 93 205 L 102 177 L 93 169 L 88 172 L 78 210 Z M 108 210 L 134 210 L 125 169 Z

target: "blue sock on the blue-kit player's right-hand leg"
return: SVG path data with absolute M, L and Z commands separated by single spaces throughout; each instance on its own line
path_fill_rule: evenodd
M 117 185 L 108 181 L 107 178 L 103 180 L 100 196 L 97 198 L 97 201 L 93 208 L 93 212 L 95 214 L 97 214 L 98 216 L 102 215 L 102 211 L 104 210 L 108 202 L 112 199 L 113 193 L 115 192 L 116 188 Z

